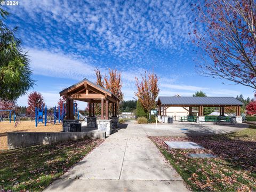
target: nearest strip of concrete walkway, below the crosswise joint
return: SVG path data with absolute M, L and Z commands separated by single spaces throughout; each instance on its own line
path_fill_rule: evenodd
M 182 181 L 56 180 L 44 191 L 189 191 Z

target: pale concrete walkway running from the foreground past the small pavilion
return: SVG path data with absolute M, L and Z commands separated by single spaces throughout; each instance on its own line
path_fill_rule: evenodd
M 46 191 L 188 191 L 143 125 L 123 126 Z

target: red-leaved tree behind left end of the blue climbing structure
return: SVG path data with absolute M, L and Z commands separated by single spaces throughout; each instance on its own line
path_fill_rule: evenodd
M 44 98 L 43 95 L 39 92 L 31 92 L 28 95 L 28 108 L 27 108 L 27 114 L 30 115 L 30 117 L 35 116 L 35 108 L 41 108 L 44 106 Z

